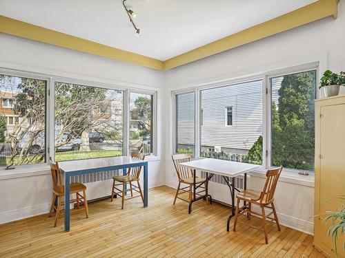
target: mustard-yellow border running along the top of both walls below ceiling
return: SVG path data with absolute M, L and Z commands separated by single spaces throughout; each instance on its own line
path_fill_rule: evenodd
M 223 39 L 214 41 L 207 45 L 196 48 L 179 56 L 175 56 L 166 61 L 160 61 L 155 58 L 135 54 L 125 50 L 119 50 L 115 47 L 102 45 L 77 36 L 49 30 L 47 28 L 25 23 L 0 15 L 0 32 L 14 36 L 20 36 L 25 39 L 31 39 L 43 43 L 66 47 L 71 50 L 95 54 L 112 58 L 118 61 L 124 61 L 135 65 L 142 65 L 153 69 L 167 70 L 186 63 L 197 61 L 207 56 L 212 56 L 234 47 L 239 47 L 267 36 L 284 32 L 298 26 L 333 16 L 337 18 L 337 4 L 339 0 L 319 0 L 308 6 L 299 8 L 280 17 L 260 23 L 242 32 L 237 32 Z

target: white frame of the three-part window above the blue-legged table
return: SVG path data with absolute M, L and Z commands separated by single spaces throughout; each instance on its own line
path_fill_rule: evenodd
M 50 74 L 40 74 L 38 72 L 26 72 L 17 69 L 9 69 L 0 67 L 0 74 L 7 76 L 17 76 L 24 78 L 32 78 L 46 81 L 46 120 L 45 120 L 45 162 L 42 164 L 23 164 L 20 166 L 13 166 L 15 169 L 11 173 L 25 173 L 27 169 L 35 166 L 42 167 L 48 165 L 49 158 L 55 160 L 55 83 L 71 83 L 76 85 L 83 85 L 88 87 L 101 87 L 104 89 L 114 89 L 122 91 L 124 94 L 123 111 L 124 111 L 124 146 L 123 155 L 129 155 L 129 98 L 130 92 L 138 94 L 150 94 L 152 98 L 152 153 L 150 155 L 157 155 L 157 90 L 155 89 L 141 89 L 139 87 L 129 87 L 124 85 L 117 85 L 115 83 L 101 83 L 93 80 L 83 80 L 78 78 L 70 78 L 65 76 L 54 76 Z M 77 75 L 76 75 L 77 76 Z M 7 118 L 6 118 L 7 119 Z M 7 120 L 6 120 L 7 122 Z M 0 170 L 5 169 L 6 166 L 0 166 Z M 30 169 L 29 169 L 30 170 Z M 10 173 L 8 172 L 8 173 Z

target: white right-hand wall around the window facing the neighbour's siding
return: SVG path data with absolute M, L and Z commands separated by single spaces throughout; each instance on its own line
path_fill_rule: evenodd
M 210 56 L 202 60 L 170 69 L 166 72 L 166 102 L 171 91 L 196 87 L 218 80 L 248 76 L 274 69 L 282 69 L 305 63 L 320 62 L 320 69 L 333 72 L 345 70 L 345 3 L 338 7 L 338 18 L 326 18 L 288 32 L 276 34 L 233 50 Z M 342 89 L 342 93 L 345 93 Z M 171 103 L 170 103 L 171 104 Z M 170 105 L 171 107 L 171 105 Z M 172 110 L 166 118 L 169 131 L 166 138 L 172 138 Z M 166 146 L 166 184 L 177 186 L 175 169 L 170 154 L 172 145 Z M 282 224 L 313 233 L 313 177 L 296 177 L 282 180 L 277 186 L 276 206 Z M 302 182 L 300 181 L 302 180 Z M 304 182 L 306 181 L 306 182 Z M 299 182 L 296 184 L 295 182 Z M 260 174 L 250 176 L 248 187 L 261 189 L 264 178 Z M 226 186 L 211 184 L 211 194 L 222 202 L 230 202 Z

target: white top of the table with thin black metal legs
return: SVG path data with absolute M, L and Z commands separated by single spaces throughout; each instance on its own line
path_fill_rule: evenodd
M 259 165 L 235 162 L 230 160 L 216 160 L 214 158 L 205 158 L 201 160 L 193 160 L 179 164 L 190 169 L 214 173 L 217 175 L 224 175 L 230 178 L 242 175 L 253 169 L 257 169 Z

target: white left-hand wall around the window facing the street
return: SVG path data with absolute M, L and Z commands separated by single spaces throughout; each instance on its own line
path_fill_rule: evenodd
M 149 187 L 164 184 L 162 151 L 161 96 L 164 92 L 164 73 L 84 54 L 53 45 L 0 34 L 0 67 L 28 72 L 77 78 L 126 87 L 151 89 L 157 94 L 157 160 L 149 162 Z M 1 178 L 0 171 L 0 178 Z M 110 195 L 110 180 L 87 184 L 88 199 Z M 44 175 L 0 180 L 0 224 L 22 217 L 47 213 L 52 199 L 50 171 Z

